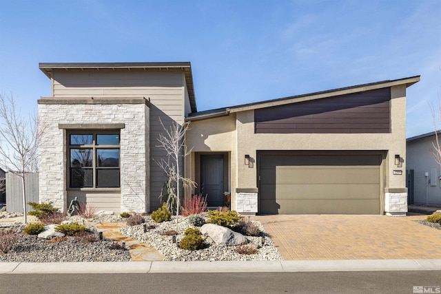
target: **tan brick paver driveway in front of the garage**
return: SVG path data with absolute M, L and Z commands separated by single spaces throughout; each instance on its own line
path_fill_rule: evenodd
M 441 230 L 426 216 L 256 216 L 284 260 L 440 259 Z

